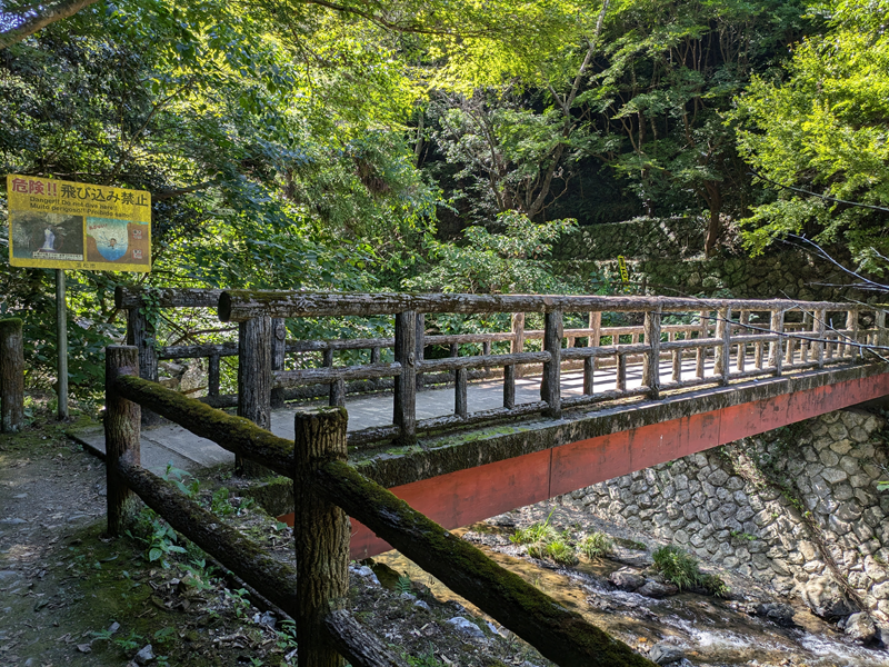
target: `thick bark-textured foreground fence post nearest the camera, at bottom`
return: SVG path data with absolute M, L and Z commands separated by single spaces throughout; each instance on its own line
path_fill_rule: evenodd
M 322 408 L 297 412 L 293 425 L 299 667 L 346 664 L 328 640 L 324 617 L 349 589 L 350 526 L 346 512 L 316 491 L 314 477 L 322 465 L 346 461 L 347 421 L 344 409 Z

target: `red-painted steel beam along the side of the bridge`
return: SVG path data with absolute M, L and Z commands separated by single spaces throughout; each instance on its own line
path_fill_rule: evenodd
M 517 507 L 882 396 L 889 396 L 889 374 L 567 442 L 390 490 L 444 528 L 459 528 Z M 533 437 L 533 431 L 529 436 Z M 292 525 L 292 515 L 281 517 L 281 520 Z M 369 558 L 390 548 L 369 528 L 352 519 L 352 558 Z

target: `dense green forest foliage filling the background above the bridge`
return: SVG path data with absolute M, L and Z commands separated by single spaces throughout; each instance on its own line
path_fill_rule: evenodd
M 0 13 L 3 170 L 153 196 L 149 276 L 69 273 L 74 385 L 119 282 L 583 291 L 549 245 L 640 212 L 699 216 L 708 252 L 742 218 L 755 251 L 889 252 L 883 0 L 83 4 L 16 40 L 39 8 Z M 49 380 L 52 275 L 0 262 Z

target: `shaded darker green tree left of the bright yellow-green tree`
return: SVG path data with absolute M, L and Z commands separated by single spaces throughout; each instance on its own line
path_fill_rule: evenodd
M 733 96 L 805 27 L 778 0 L 621 2 L 606 60 L 581 99 L 598 115 L 597 153 L 633 182 L 648 215 L 700 210 L 712 252 L 725 213 L 741 215 L 749 179 L 725 123 Z

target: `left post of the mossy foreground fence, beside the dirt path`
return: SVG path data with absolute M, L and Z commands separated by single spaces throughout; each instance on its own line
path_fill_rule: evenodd
M 121 376 L 139 376 L 139 349 L 110 345 L 104 349 L 104 451 L 108 500 L 108 534 L 118 536 L 133 519 L 139 499 L 127 488 L 117 472 L 118 460 L 140 464 L 139 439 L 141 412 L 139 404 L 122 398 L 114 382 Z

